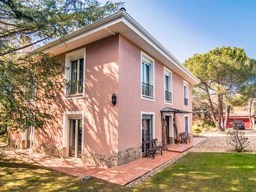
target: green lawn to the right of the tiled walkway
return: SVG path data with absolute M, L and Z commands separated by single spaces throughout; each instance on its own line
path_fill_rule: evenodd
M 141 191 L 254 191 L 256 155 L 188 153 L 137 187 Z M 158 189 L 158 190 L 157 190 Z

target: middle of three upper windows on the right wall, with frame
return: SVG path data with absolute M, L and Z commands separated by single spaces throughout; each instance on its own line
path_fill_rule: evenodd
M 172 73 L 167 68 L 163 68 L 163 84 L 164 84 L 164 95 L 165 103 L 172 103 Z

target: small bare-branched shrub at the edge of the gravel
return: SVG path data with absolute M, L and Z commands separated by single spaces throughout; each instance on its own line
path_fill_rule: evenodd
M 234 147 L 237 152 L 244 152 L 249 145 L 249 140 L 244 136 L 244 132 L 232 129 L 227 132 L 227 144 Z

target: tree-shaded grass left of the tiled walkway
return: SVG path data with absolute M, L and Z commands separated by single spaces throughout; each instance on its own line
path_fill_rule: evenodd
M 18 161 L 18 160 L 17 160 Z M 0 191 L 128 191 L 128 188 L 98 179 L 81 183 L 76 176 L 66 175 L 39 165 L 21 161 L 0 160 Z

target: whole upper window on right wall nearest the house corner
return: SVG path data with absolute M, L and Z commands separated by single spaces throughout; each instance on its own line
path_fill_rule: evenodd
M 155 95 L 154 61 L 145 53 L 142 53 L 141 57 L 142 99 L 153 100 Z

